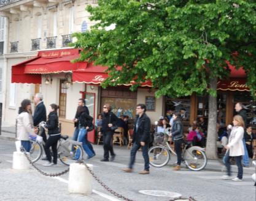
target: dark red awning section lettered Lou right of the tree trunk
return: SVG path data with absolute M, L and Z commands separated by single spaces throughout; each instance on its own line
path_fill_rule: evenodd
M 249 87 L 246 86 L 246 79 L 230 78 L 219 81 L 217 84 L 217 90 L 250 91 Z

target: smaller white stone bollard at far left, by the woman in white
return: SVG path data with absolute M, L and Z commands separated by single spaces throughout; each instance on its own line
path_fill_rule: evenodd
M 29 156 L 29 153 L 26 153 Z M 28 170 L 30 167 L 29 161 L 23 152 L 14 152 L 12 158 L 12 169 Z

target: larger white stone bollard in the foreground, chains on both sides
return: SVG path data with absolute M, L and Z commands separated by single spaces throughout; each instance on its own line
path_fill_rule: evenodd
M 87 166 L 92 170 L 93 165 L 87 164 Z M 92 192 L 91 186 L 92 176 L 88 171 L 87 167 L 83 164 L 72 163 L 69 166 L 69 181 L 68 181 L 68 191 L 71 193 L 90 195 Z

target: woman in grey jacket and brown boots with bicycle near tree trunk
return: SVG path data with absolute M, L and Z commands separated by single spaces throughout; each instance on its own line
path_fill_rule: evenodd
M 180 120 L 179 112 L 173 114 L 173 126 L 171 126 L 171 136 L 173 137 L 174 147 L 177 154 L 177 166 L 173 170 L 180 170 L 180 163 L 182 160 L 182 148 L 181 145 L 184 142 L 183 139 L 183 125 Z

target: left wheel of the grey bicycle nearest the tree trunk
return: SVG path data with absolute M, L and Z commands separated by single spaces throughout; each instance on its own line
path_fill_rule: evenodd
M 149 149 L 149 163 L 153 167 L 163 167 L 168 164 L 170 153 L 166 147 L 154 146 Z

